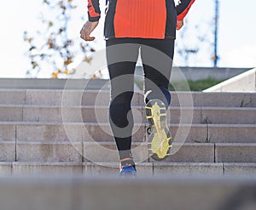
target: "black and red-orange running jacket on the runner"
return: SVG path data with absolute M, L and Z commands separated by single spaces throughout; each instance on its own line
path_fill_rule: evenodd
M 107 0 L 104 37 L 175 38 L 177 20 L 183 20 L 195 0 Z M 99 0 L 88 0 L 90 21 L 101 17 Z

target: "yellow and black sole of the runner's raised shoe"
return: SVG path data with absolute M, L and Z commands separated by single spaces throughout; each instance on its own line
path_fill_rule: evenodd
M 149 100 L 146 108 L 151 133 L 148 137 L 148 152 L 154 160 L 161 161 L 170 156 L 172 135 L 166 123 L 166 105 L 159 99 Z

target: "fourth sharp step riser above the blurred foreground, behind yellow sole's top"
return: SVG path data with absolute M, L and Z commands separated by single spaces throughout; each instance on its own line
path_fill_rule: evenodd
M 133 106 L 132 109 L 142 116 L 146 123 L 145 111 L 142 106 Z M 57 105 L 0 105 L 1 122 L 63 122 L 61 112 L 68 114 L 66 122 L 77 122 L 79 115 L 83 122 L 108 123 L 108 107 L 93 105 L 70 106 L 63 108 Z M 254 107 L 184 107 L 184 112 L 194 111 L 194 124 L 255 124 L 256 108 Z M 172 106 L 169 109 L 171 123 L 179 123 L 180 107 Z M 240 117 L 242 116 L 242 117 Z M 135 116 L 135 121 L 139 121 Z M 186 123 L 186 119 L 183 121 Z M 189 121 L 188 121 L 189 122 Z

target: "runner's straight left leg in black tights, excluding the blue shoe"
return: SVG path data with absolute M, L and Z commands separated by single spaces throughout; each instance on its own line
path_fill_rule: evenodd
M 107 41 L 108 71 L 111 81 L 109 122 L 119 150 L 120 160 L 131 158 L 131 133 L 133 116 L 131 99 L 134 88 L 134 71 L 139 46 L 129 44 L 134 39 Z

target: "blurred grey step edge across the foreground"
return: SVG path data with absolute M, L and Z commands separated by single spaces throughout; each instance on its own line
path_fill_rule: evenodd
M 4 210 L 253 210 L 255 179 L 0 179 Z

